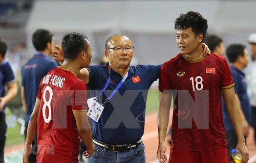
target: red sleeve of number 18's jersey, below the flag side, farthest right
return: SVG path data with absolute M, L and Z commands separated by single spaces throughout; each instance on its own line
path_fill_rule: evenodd
M 229 89 L 234 86 L 233 78 L 231 76 L 231 72 L 228 66 L 228 63 L 225 58 L 222 59 L 222 67 L 223 67 L 223 73 L 222 73 L 222 83 L 221 88 L 222 89 Z

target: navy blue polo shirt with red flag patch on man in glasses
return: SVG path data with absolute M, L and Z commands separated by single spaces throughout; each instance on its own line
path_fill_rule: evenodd
M 88 68 L 88 88 L 91 96 L 97 96 L 109 77 L 109 63 Z M 128 76 L 116 94 L 104 104 L 98 122 L 92 119 L 93 138 L 111 145 L 134 143 L 144 133 L 145 106 L 148 89 L 158 79 L 161 65 L 130 66 Z M 100 98 L 104 102 L 123 77 L 111 69 L 110 84 Z M 156 99 L 158 100 L 158 99 Z M 89 118 L 90 119 L 90 118 Z

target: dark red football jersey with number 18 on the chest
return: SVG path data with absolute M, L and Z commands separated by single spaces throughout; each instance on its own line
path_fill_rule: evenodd
M 171 149 L 211 150 L 227 147 L 221 89 L 234 83 L 228 64 L 214 54 L 197 62 L 177 55 L 161 67 L 159 91 L 174 98 Z

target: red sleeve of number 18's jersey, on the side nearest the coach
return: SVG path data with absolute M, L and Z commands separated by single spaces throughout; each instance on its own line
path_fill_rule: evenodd
M 158 90 L 162 93 L 169 93 L 170 85 L 168 81 L 168 71 L 167 71 L 167 64 L 164 63 L 161 66 L 161 71 L 159 75 L 159 86 Z

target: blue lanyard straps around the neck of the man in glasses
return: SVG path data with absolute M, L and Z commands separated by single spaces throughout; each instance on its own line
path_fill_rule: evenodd
M 111 69 L 109 68 L 109 74 L 110 74 L 110 71 L 111 71 Z M 128 72 L 126 72 L 126 74 L 124 75 L 123 79 L 119 82 L 119 84 L 118 84 L 117 87 L 114 89 L 114 91 L 109 95 L 109 97 L 105 99 L 105 102 L 104 102 L 104 103 L 109 102 L 110 99 L 116 94 L 116 92 L 119 90 L 119 88 L 123 85 L 124 80 L 127 78 L 127 76 L 128 76 Z M 100 91 L 100 93 L 96 96 L 96 100 L 99 99 L 99 98 L 102 96 L 102 94 L 104 93 L 104 91 L 106 90 L 106 88 L 109 86 L 109 84 L 110 84 L 110 75 L 109 75 L 108 80 L 106 80 L 106 84 L 104 85 L 104 87 L 102 88 L 102 90 Z M 104 104 L 104 103 L 103 103 L 103 104 Z

